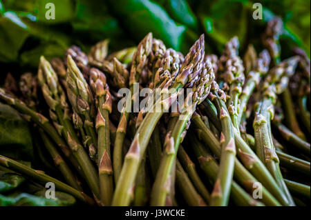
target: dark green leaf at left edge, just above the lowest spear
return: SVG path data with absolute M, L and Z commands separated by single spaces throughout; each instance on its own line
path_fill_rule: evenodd
M 0 103 L 0 154 L 16 159 L 33 158 L 28 123 L 10 106 Z

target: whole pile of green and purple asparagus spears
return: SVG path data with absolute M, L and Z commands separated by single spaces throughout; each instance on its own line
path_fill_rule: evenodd
M 202 35 L 184 57 L 151 33 L 111 54 L 105 40 L 41 57 L 0 100 L 32 123 L 64 178 L 2 155 L 0 166 L 99 206 L 310 204 L 310 59 L 296 48 L 281 61 L 281 22 L 243 59 L 236 37 L 217 57 Z M 160 92 L 135 109 L 143 88 Z

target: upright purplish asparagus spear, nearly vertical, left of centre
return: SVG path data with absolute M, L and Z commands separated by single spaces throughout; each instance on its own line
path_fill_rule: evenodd
M 90 84 L 96 94 L 97 117 L 97 166 L 100 177 L 100 200 L 104 206 L 111 204 L 113 196 L 113 170 L 111 165 L 109 114 L 111 113 L 111 94 L 106 84 L 106 76 L 95 68 L 90 70 Z

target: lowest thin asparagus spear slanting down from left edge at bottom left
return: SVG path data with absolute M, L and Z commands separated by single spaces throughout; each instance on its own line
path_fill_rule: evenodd
M 80 201 L 84 201 L 85 203 L 88 203 L 90 205 L 94 204 L 93 199 L 84 194 L 84 192 L 76 190 L 75 188 L 72 188 L 71 186 L 62 183 L 61 181 L 54 179 L 47 174 L 44 174 L 43 171 L 34 170 L 32 168 L 29 168 L 28 166 L 25 166 L 15 160 L 9 159 L 8 157 L 4 157 L 2 155 L 0 155 L 0 165 L 10 170 L 14 170 L 15 172 L 19 172 L 20 174 L 26 175 L 30 179 L 34 179 L 43 184 L 47 182 L 52 182 L 55 184 L 57 190 L 72 194 L 75 198 L 79 199 Z

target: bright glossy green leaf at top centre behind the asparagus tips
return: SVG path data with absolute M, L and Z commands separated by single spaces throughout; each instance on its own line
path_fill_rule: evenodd
M 173 21 L 158 3 L 149 0 L 111 0 L 110 2 L 113 12 L 122 21 L 123 27 L 136 41 L 140 41 L 148 32 L 153 32 L 153 36 L 162 39 L 167 47 L 187 52 L 189 46 L 196 40 L 196 34 L 195 37 L 186 36 L 188 34 L 186 26 L 178 25 Z

